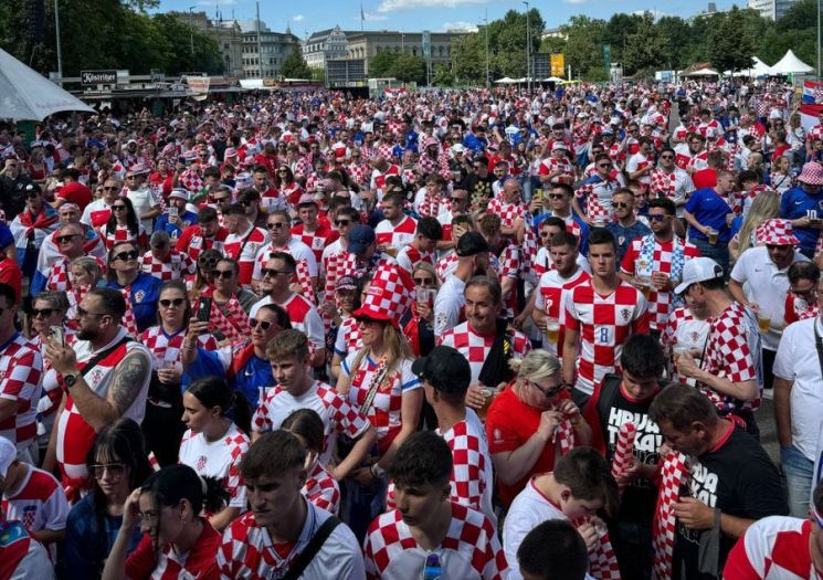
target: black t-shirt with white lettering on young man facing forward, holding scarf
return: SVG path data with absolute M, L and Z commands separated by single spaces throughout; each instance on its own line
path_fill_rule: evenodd
M 648 419 L 648 408 L 654 396 L 645 400 L 630 399 L 621 391 L 621 382 L 620 376 L 606 375 L 600 387 L 599 397 L 590 402 L 598 412 L 600 433 L 605 444 L 605 458 L 609 463 L 614 461 L 614 449 L 618 445 L 621 425 L 634 423 L 637 428 L 634 456 L 641 463 L 654 465 L 660 457 L 657 450 L 663 444 L 663 435 L 657 423 Z M 636 521 L 651 527 L 656 504 L 657 487 L 644 477 L 636 477 L 623 489 L 616 519 Z

